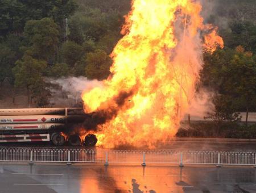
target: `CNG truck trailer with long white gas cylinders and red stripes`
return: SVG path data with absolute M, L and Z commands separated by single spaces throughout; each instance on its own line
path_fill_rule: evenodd
M 51 141 L 53 145 L 94 146 L 97 138 L 81 139 L 74 127 L 86 119 L 82 108 L 20 108 L 0 110 L 0 142 Z

